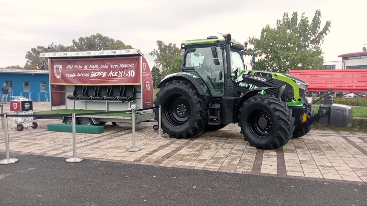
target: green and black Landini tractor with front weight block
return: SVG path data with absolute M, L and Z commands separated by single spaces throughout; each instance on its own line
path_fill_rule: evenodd
M 181 43 L 181 72 L 161 80 L 154 101 L 161 105 L 163 133 L 191 138 L 239 122 L 250 146 L 265 150 L 306 135 L 317 121 L 352 125 L 352 108 L 333 104 L 331 88 L 321 97 L 324 104 L 315 115 L 312 102 L 305 98 L 306 82 L 288 74 L 247 71 L 243 59 L 247 44 L 230 34 L 223 37 Z M 158 120 L 159 110 L 154 112 Z

